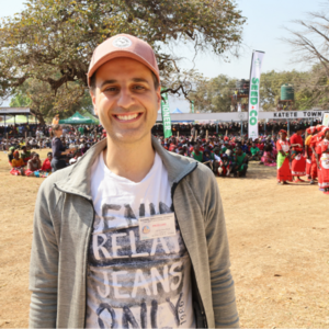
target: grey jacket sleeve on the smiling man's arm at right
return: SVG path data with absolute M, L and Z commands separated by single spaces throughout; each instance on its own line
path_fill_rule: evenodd
M 211 179 L 205 202 L 205 231 L 216 328 L 239 328 L 235 284 L 230 274 L 229 247 L 218 185 Z

